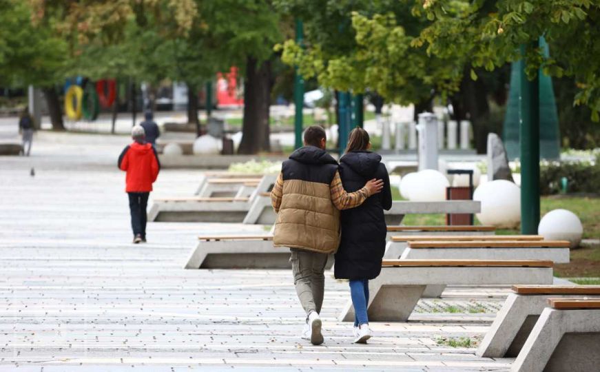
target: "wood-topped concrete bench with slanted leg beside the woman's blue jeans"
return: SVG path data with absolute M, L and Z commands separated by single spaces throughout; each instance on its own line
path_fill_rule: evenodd
M 372 321 L 405 322 L 428 285 L 551 283 L 552 261 L 383 260 L 380 276 L 369 281 L 367 312 Z M 339 318 L 354 320 L 352 300 Z

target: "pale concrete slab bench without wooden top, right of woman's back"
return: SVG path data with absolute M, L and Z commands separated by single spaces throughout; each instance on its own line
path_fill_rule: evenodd
M 475 214 L 482 210 L 477 200 L 443 200 L 415 202 L 395 200 L 389 211 L 384 211 L 387 225 L 400 225 L 405 214 Z

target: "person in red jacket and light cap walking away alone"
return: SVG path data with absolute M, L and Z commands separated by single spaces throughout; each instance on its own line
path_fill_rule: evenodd
M 127 172 L 125 176 L 125 192 L 129 195 L 132 215 L 134 243 L 146 242 L 146 206 L 152 191 L 152 183 L 158 177 L 161 163 L 158 161 L 156 149 L 146 143 L 144 128 L 136 125 L 132 129 L 134 142 L 123 149 L 118 156 L 118 168 Z

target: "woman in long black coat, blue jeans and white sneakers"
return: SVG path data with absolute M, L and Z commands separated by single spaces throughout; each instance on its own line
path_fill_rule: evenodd
M 346 192 L 355 192 L 366 181 L 384 181 L 380 194 L 367 198 L 360 207 L 341 212 L 342 240 L 335 254 L 335 278 L 350 280 L 354 305 L 354 342 L 371 338 L 366 304 L 369 303 L 369 280 L 381 272 L 386 245 L 386 223 L 383 210 L 392 207 L 392 194 L 387 169 L 381 156 L 369 151 L 369 134 L 362 128 L 350 132 L 346 154 L 340 159 L 340 176 Z

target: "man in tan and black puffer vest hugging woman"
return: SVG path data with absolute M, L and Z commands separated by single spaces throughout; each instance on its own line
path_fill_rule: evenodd
M 283 162 L 271 203 L 277 221 L 273 244 L 289 247 L 294 285 L 307 312 L 302 338 L 323 343 L 319 313 L 323 303 L 323 271 L 329 254 L 340 245 L 340 210 L 361 205 L 377 194 L 382 180 L 369 180 L 357 192 L 342 187 L 338 162 L 325 151 L 327 134 L 313 125 L 304 131 L 304 147 Z

